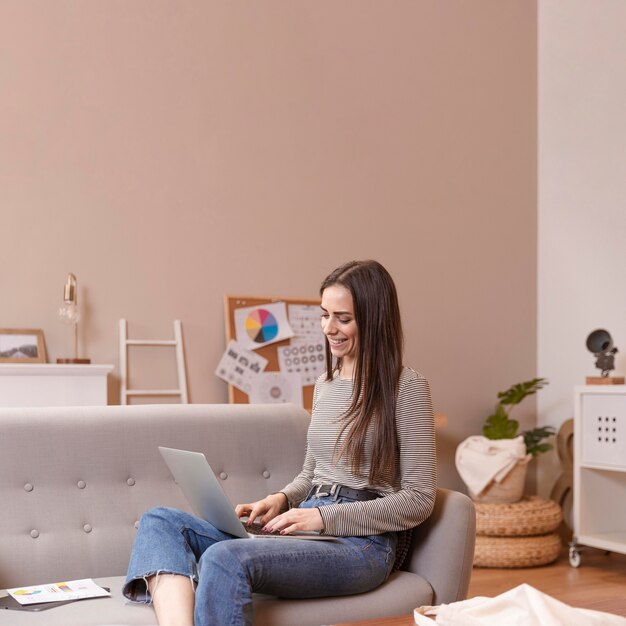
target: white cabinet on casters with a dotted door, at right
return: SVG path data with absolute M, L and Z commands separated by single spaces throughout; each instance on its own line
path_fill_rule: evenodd
M 626 554 L 626 385 L 576 387 L 574 538 L 579 545 Z

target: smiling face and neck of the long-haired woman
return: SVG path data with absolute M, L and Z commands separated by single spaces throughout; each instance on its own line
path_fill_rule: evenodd
M 342 376 L 352 376 L 359 333 L 352 294 L 341 285 L 331 285 L 322 293 L 322 330 L 332 355 L 341 359 Z

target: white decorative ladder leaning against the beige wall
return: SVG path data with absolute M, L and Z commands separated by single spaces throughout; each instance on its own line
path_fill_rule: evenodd
M 170 346 L 176 350 L 178 389 L 129 389 L 128 388 L 128 346 Z M 174 339 L 129 339 L 128 322 L 120 320 L 120 404 L 128 404 L 131 396 L 179 396 L 181 404 L 189 404 L 187 396 L 187 374 L 183 349 L 183 326 L 174 320 Z

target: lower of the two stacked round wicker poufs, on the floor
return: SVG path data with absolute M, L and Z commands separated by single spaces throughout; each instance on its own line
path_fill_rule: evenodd
M 474 567 L 536 567 L 558 559 L 556 533 L 536 537 L 476 537 Z

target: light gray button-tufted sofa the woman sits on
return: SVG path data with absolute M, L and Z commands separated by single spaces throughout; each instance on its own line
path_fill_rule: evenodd
M 0 409 L 0 589 L 94 578 L 113 594 L 39 613 L 0 611 L 0 626 L 155 624 L 151 607 L 127 603 L 120 590 L 141 514 L 189 508 L 157 446 L 204 452 L 230 499 L 252 501 L 300 470 L 308 419 L 291 405 Z M 258 596 L 255 625 L 333 624 L 463 599 L 474 531 L 471 501 L 439 490 L 403 571 L 380 588 L 315 600 Z

